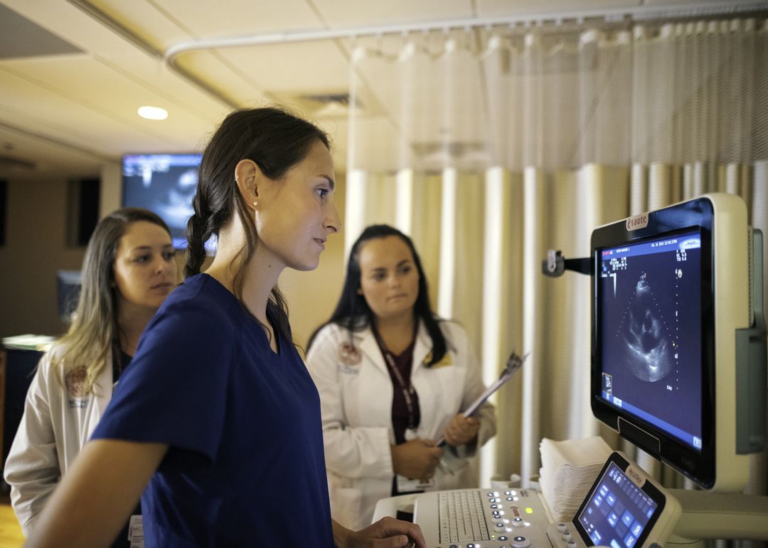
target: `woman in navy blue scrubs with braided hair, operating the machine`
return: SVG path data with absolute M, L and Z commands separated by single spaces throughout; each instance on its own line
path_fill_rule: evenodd
M 147 547 L 424 546 L 411 523 L 331 520 L 319 397 L 276 285 L 286 267 L 315 268 L 339 231 L 334 187 L 316 126 L 276 108 L 227 116 L 200 165 L 187 279 L 30 546 L 108 546 L 140 496 Z

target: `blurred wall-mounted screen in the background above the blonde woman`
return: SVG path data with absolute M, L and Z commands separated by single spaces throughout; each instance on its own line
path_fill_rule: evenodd
M 145 208 L 170 228 L 174 247 L 187 247 L 187 221 L 197 190 L 202 154 L 126 154 L 123 157 L 124 208 Z M 207 242 L 209 254 L 215 243 Z

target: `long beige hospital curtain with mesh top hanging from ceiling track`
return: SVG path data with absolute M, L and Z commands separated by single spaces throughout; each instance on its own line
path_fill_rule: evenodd
M 740 194 L 766 231 L 764 19 L 603 26 L 417 33 L 353 55 L 347 245 L 372 222 L 412 234 L 486 383 L 529 354 L 495 399 L 482 485 L 535 477 L 542 437 L 631 450 L 591 415 L 589 279 L 543 276 L 548 249 L 587 257 L 595 227 L 710 191 Z

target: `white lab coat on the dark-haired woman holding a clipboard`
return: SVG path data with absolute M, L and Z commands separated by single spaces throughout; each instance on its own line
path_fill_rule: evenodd
M 421 412 L 417 435 L 432 440 L 442 438 L 451 419 L 485 390 L 465 331 L 449 321 L 440 325 L 449 352 L 439 364 L 425 367 L 432 340 L 420 323 L 411 371 Z M 326 325 L 313 341 L 306 364 L 320 394 L 331 514 L 343 526 L 359 530 L 371 523 L 376 502 L 392 495 L 394 388 L 372 331 L 367 328 L 352 334 L 359 364 L 349 364 L 353 360 L 348 353 L 346 359 L 339 355 L 342 345 L 349 342 L 348 330 Z M 496 432 L 495 410 L 486 403 L 477 416 L 481 420 L 478 444 L 482 445 Z M 468 459 L 475 449 L 455 451 Z M 438 468 L 432 489 L 476 487 L 474 468 L 465 467 L 453 475 Z

